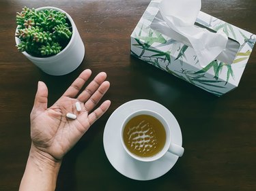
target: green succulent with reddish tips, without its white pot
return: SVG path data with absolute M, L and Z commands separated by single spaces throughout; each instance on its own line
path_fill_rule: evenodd
M 16 14 L 16 24 L 15 36 L 20 39 L 16 47 L 20 52 L 36 57 L 58 54 L 72 37 L 72 27 L 66 14 L 57 10 L 37 11 L 24 7 Z

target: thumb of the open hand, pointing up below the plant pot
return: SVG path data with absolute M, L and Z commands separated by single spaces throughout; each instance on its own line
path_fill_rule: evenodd
M 35 101 L 33 103 L 34 109 L 46 110 L 48 101 L 48 88 L 44 82 L 38 82 L 38 91 L 35 94 Z

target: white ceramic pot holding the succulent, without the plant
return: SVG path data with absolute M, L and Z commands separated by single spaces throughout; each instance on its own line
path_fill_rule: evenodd
M 70 20 L 72 26 L 72 37 L 69 44 L 61 52 L 54 56 L 39 58 L 22 52 L 32 63 L 42 69 L 45 73 L 50 75 L 65 75 L 74 71 L 83 61 L 85 56 L 85 46 L 79 35 L 79 31 L 76 29 L 76 24 L 72 20 L 71 16 L 57 7 L 40 7 L 36 10 L 57 10 L 66 14 L 68 20 Z M 15 37 L 16 44 L 20 43 L 20 39 Z

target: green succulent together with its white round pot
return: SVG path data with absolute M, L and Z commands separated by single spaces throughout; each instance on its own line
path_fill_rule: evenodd
M 16 47 L 50 75 L 74 71 L 85 55 L 85 46 L 69 14 L 57 7 L 24 7 L 16 14 Z

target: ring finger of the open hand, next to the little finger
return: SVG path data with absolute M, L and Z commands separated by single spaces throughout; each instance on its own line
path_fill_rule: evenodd
M 109 82 L 105 81 L 103 82 L 100 87 L 94 92 L 94 94 L 89 97 L 89 99 L 85 102 L 85 110 L 86 111 L 91 111 L 96 107 L 100 99 L 104 96 L 107 90 L 109 90 Z

